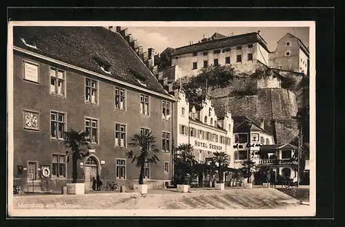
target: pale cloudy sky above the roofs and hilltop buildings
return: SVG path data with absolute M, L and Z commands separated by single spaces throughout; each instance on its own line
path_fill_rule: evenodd
M 233 33 L 245 34 L 249 32 L 257 32 L 260 30 L 261 36 L 267 43 L 268 50 L 274 51 L 277 47 L 277 41 L 281 39 L 287 32 L 297 36 L 302 40 L 306 47 L 309 47 L 309 28 L 306 27 L 121 27 L 128 28 L 128 32 L 132 34 L 133 39 L 137 39 L 138 45 L 143 46 L 144 52 L 149 47 L 155 49 L 156 53 L 163 52 L 166 47 L 182 47 L 189 45 L 190 41 L 197 43 L 203 36 L 210 37 L 213 33 L 218 32 L 226 36 Z

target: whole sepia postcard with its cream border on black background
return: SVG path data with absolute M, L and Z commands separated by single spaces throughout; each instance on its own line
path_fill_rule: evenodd
M 8 213 L 316 212 L 313 21 L 11 21 Z

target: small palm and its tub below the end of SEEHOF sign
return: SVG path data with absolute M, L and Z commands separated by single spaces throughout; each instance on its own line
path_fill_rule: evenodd
M 224 190 L 224 171 L 228 168 L 228 155 L 225 152 L 213 153 L 213 162 L 217 166 L 218 180 L 215 183 L 216 190 Z

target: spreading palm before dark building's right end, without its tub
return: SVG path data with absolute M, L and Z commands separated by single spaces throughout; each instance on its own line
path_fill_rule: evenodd
M 157 164 L 157 161 L 159 161 L 155 154 L 159 151 L 155 143 L 155 136 L 152 136 L 151 132 L 146 135 L 143 131 L 133 135 L 128 143 L 136 149 L 135 151 L 129 151 L 126 155 L 132 159 L 132 162 L 136 162 L 135 166 L 140 168 L 139 184 L 144 184 L 144 167 L 146 162 Z

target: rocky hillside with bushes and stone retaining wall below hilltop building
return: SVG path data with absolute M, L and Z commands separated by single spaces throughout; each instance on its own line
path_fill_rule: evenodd
M 208 81 L 215 78 L 213 74 L 210 77 L 208 74 L 201 74 L 201 77 L 210 78 Z M 273 134 L 277 143 L 292 142 L 298 136 L 297 120 L 293 117 L 297 115 L 299 108 L 308 104 L 306 86 L 302 83 L 301 75 L 277 72 L 254 61 L 233 67 L 228 78 L 227 83 L 217 84 L 217 78 L 215 84 L 208 84 L 207 94 L 218 117 L 224 116 L 228 106 L 233 116 L 247 116 L 258 125 L 264 119 L 264 129 Z M 204 89 L 204 84 L 195 84 L 198 79 L 182 81 L 184 88 L 189 91 L 193 91 L 191 86 Z M 195 95 L 189 93 L 191 97 Z M 187 98 L 189 99 L 188 94 Z

